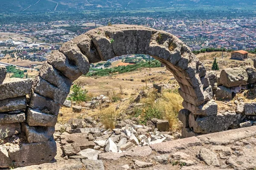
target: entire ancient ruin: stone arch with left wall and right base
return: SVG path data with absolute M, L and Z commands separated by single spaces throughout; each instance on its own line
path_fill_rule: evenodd
M 217 76 L 207 74 L 204 65 L 177 37 L 143 26 L 113 25 L 93 29 L 65 43 L 44 63 L 35 79 L 0 85 L 0 129 L 8 136 L 23 133 L 26 139 L 19 147 L 1 148 L 0 167 L 50 162 L 56 155 L 52 134 L 72 82 L 87 74 L 90 63 L 125 54 L 148 54 L 173 73 L 184 100 L 179 113 L 184 137 L 239 126 L 239 112 L 218 114 L 212 91 L 219 94 L 222 90 L 215 88 Z M 0 68 L 0 83 L 5 74 Z M 247 75 L 246 71 L 242 74 Z M 234 86 L 229 81 L 221 83 L 223 88 Z

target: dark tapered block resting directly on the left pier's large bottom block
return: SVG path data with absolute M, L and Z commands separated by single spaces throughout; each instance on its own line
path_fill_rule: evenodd
M 26 123 L 22 123 L 22 131 L 25 133 L 29 143 L 39 143 L 48 141 L 55 132 L 55 129 L 54 127 L 42 126 L 30 127 Z

